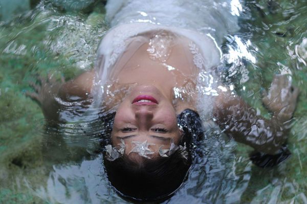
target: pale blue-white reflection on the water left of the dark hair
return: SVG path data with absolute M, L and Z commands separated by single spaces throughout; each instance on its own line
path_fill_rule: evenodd
M 35 194 L 52 203 L 101 203 L 111 201 L 111 188 L 101 164 L 102 156 L 93 157 L 77 164 L 54 165 L 46 186 Z

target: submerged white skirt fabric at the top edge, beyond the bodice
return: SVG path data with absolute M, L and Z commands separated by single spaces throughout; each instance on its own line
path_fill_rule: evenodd
M 112 0 L 106 4 L 111 27 L 148 22 L 210 33 L 218 44 L 227 33 L 238 30 L 231 11 L 231 0 Z

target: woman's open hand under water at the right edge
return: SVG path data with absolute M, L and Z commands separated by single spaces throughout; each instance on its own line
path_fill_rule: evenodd
M 296 108 L 299 90 L 286 75 L 275 75 L 269 93 L 262 93 L 262 102 L 279 122 L 287 122 Z

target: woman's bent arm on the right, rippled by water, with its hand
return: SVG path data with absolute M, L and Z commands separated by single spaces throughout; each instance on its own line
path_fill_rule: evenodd
M 257 115 L 242 98 L 228 90 L 216 100 L 213 115 L 216 122 L 235 141 L 257 151 L 274 154 L 287 139 L 290 119 L 296 107 L 298 89 L 284 75 L 275 76 L 264 104 L 273 116 L 270 120 Z

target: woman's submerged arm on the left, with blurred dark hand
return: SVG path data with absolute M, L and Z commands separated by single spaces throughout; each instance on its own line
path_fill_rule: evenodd
M 49 123 L 63 122 L 60 112 L 69 110 L 72 106 L 82 107 L 89 104 L 92 96 L 94 71 L 81 74 L 77 78 L 61 82 L 49 75 L 47 79 L 39 78 L 40 85 L 31 83 L 34 93 L 26 93 L 41 107 L 45 119 Z

